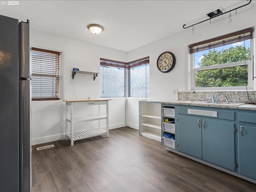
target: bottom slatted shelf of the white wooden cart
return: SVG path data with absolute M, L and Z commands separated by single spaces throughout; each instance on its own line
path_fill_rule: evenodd
M 73 137 L 74 137 L 74 141 L 76 141 L 80 139 L 103 135 L 106 133 L 107 133 L 106 130 L 97 128 L 97 129 L 90 129 L 90 130 L 85 130 L 80 132 L 74 132 Z M 71 140 L 71 133 L 67 134 L 67 137 Z

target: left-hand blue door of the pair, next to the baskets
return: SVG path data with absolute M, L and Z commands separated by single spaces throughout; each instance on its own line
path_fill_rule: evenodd
M 178 115 L 178 151 L 202 159 L 201 127 L 200 118 Z

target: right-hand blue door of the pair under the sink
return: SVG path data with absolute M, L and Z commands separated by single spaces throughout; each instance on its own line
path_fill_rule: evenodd
M 235 170 L 234 123 L 202 119 L 202 159 Z

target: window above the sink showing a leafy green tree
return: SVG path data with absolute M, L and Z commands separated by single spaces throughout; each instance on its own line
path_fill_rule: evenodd
M 248 28 L 190 45 L 194 90 L 252 88 L 252 38 Z

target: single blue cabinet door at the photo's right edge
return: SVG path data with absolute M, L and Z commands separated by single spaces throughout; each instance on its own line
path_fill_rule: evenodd
M 256 179 L 256 127 L 238 125 L 238 134 L 239 173 Z

